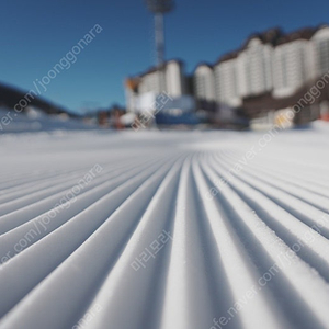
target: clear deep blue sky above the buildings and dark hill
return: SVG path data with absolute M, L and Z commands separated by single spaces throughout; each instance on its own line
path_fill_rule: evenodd
M 175 7 L 166 19 L 167 58 L 184 59 L 188 72 L 252 32 L 329 22 L 328 0 L 177 0 Z M 143 0 L 3 0 L 0 81 L 32 89 L 95 24 L 103 31 L 42 95 L 76 112 L 124 104 L 124 78 L 155 61 L 152 18 Z

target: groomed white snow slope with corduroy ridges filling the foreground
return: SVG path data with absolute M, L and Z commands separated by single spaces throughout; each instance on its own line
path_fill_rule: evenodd
M 0 152 L 0 329 L 329 328 L 326 125 Z

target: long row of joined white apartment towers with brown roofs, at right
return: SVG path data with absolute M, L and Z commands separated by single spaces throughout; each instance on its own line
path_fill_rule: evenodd
M 213 71 L 214 86 L 209 88 L 215 88 L 219 105 L 240 107 L 249 99 L 274 103 L 291 98 L 329 72 L 329 26 L 253 34 L 241 48 L 222 56 Z M 198 92 L 198 71 L 194 76 Z

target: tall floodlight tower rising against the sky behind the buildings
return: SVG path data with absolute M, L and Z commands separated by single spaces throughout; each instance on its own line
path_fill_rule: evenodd
M 145 0 L 147 9 L 155 15 L 155 35 L 157 66 L 162 76 L 164 65 L 164 25 L 163 15 L 173 10 L 173 0 Z M 163 79 L 160 78 L 160 92 L 163 91 Z

